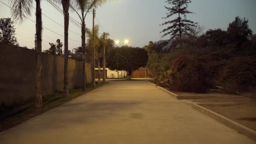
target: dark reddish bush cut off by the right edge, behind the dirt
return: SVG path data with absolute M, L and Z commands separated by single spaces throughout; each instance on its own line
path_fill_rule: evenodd
M 256 56 L 230 59 L 222 72 L 220 84 L 228 92 L 239 94 L 256 87 Z

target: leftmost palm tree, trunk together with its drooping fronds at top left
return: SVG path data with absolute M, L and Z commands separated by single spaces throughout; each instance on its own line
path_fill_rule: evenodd
M 40 0 L 35 0 L 36 2 L 36 80 L 35 80 L 35 107 L 43 107 L 43 101 L 41 96 L 41 51 L 42 51 L 42 11 Z M 33 1 L 32 0 L 11 0 L 11 15 L 14 21 L 19 21 L 22 23 L 24 19 L 31 16 Z

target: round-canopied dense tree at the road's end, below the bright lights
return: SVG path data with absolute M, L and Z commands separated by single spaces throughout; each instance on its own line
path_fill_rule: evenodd
M 143 48 L 133 48 L 127 45 L 110 51 L 107 57 L 107 67 L 111 70 L 125 70 L 128 78 L 140 67 L 147 65 L 148 55 Z

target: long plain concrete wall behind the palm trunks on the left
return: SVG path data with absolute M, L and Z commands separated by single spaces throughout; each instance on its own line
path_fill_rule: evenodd
M 0 104 L 12 105 L 35 96 L 35 51 L 0 44 Z M 69 59 L 69 88 L 82 86 L 82 61 Z M 86 64 L 91 83 L 91 64 Z M 64 58 L 42 53 L 42 95 L 63 91 Z

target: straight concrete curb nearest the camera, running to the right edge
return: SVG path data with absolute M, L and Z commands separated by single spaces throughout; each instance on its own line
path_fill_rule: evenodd
M 206 109 L 205 107 L 200 106 L 199 104 L 192 104 L 192 107 L 200 112 L 202 112 L 205 115 L 208 115 L 209 117 L 218 120 L 219 122 L 223 123 L 224 125 L 227 125 L 228 127 L 243 133 L 245 136 L 248 136 L 249 138 L 256 141 L 256 131 L 253 131 L 250 128 L 247 128 L 233 120 L 230 120 L 227 117 L 224 117 L 222 115 L 217 114 L 216 112 L 213 112 L 209 109 Z

